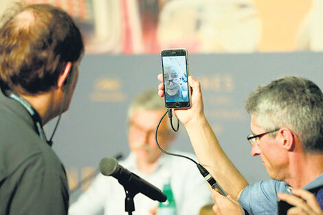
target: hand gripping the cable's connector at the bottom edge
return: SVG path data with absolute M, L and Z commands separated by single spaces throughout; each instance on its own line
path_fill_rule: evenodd
M 212 207 L 214 214 L 216 215 L 244 215 L 242 206 L 238 201 L 232 199 L 230 195 L 223 196 L 219 192 L 212 190 L 212 199 L 215 201 L 215 204 Z

